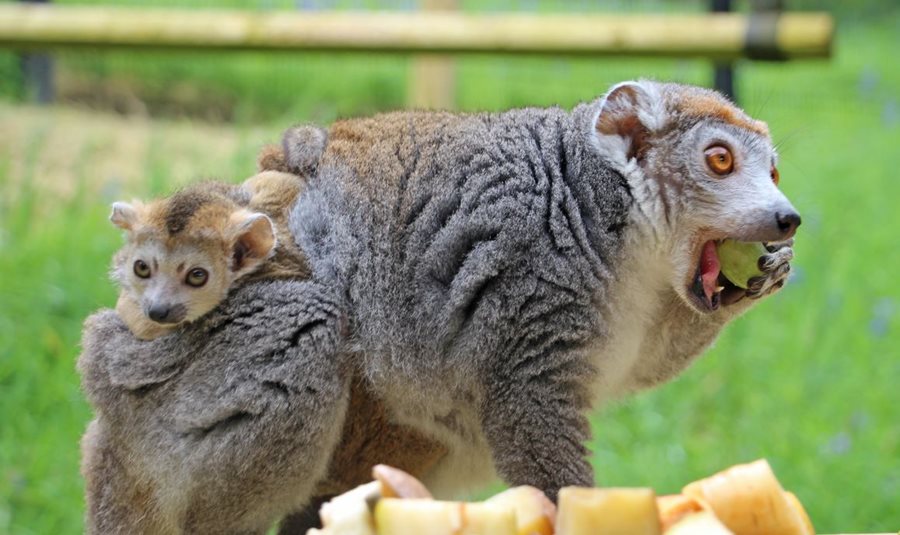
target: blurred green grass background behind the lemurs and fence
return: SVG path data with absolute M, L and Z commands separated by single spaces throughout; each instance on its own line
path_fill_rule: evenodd
M 304 2 L 258 7 L 295 4 Z M 464 2 L 548 11 L 625 4 Z M 600 484 L 659 493 L 766 457 L 819 532 L 894 531 L 900 6 L 787 4 L 832 10 L 835 57 L 741 62 L 737 91 L 769 122 L 782 187 L 804 217 L 791 283 L 680 379 L 599 412 L 591 448 Z M 654 0 L 628 9 L 704 6 Z M 56 61 L 58 104 L 35 107 L 17 57 L 0 51 L 0 533 L 82 530 L 78 440 L 90 410 L 74 363 L 84 317 L 114 303 L 107 269 L 121 237 L 107 222 L 109 204 L 203 177 L 241 180 L 259 147 L 294 122 L 402 107 L 408 66 L 402 57 L 323 54 L 73 52 Z M 637 77 L 710 80 L 702 61 L 478 57 L 458 69 L 463 110 L 568 107 Z

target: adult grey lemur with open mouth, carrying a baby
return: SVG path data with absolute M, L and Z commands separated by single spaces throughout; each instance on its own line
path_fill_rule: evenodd
M 715 248 L 792 237 L 775 164 L 763 123 L 646 81 L 571 112 L 335 123 L 290 220 L 310 280 L 248 284 L 149 342 L 88 320 L 90 530 L 265 532 L 325 477 L 351 377 L 443 447 L 420 474 L 438 495 L 593 484 L 591 408 L 783 284 L 788 243 L 748 290 Z

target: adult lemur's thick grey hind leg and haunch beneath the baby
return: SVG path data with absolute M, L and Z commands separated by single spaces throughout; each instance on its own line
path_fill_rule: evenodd
M 264 533 L 304 505 L 339 438 L 343 328 L 326 290 L 295 281 L 250 284 L 152 341 L 91 316 L 88 531 Z

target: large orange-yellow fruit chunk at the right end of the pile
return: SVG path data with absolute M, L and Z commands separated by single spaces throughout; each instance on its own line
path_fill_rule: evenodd
M 708 503 L 719 520 L 739 535 L 813 533 L 765 460 L 732 466 L 689 484 L 682 492 Z

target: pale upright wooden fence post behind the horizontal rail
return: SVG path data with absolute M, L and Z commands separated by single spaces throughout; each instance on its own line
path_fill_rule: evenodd
M 420 0 L 425 11 L 453 11 L 459 0 Z M 451 110 L 456 104 L 456 64 L 448 55 L 413 57 L 409 71 L 407 107 Z

